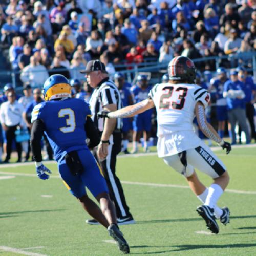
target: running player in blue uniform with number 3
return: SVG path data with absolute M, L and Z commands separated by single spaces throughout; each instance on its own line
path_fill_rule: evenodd
M 37 176 L 46 180 L 51 171 L 42 164 L 40 140 L 45 133 L 54 151 L 58 170 L 64 184 L 78 198 L 82 207 L 104 227 L 124 253 L 129 245 L 117 226 L 115 208 L 109 197 L 105 179 L 89 148 L 100 139 L 90 118 L 89 105 L 71 98 L 71 86 L 62 75 L 50 76 L 44 84 L 45 102 L 35 106 L 31 122 L 31 150 Z M 90 139 L 86 144 L 87 137 Z M 87 187 L 100 203 L 100 208 L 87 196 Z

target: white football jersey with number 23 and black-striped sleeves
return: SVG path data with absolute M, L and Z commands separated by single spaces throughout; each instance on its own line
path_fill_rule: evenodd
M 193 131 L 195 105 L 201 102 L 205 108 L 210 94 L 197 84 L 156 84 L 148 96 L 157 109 L 157 135 L 162 137 L 177 131 Z

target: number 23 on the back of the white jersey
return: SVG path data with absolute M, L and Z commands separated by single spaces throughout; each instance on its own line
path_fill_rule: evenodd
M 177 101 L 179 100 L 180 102 L 178 103 L 177 101 L 170 101 L 172 98 L 174 87 L 173 86 L 166 86 L 163 88 L 163 91 L 167 92 L 161 95 L 160 97 L 160 104 L 159 108 L 160 109 L 169 109 L 170 105 L 172 106 L 173 109 L 181 110 L 184 106 L 185 103 L 185 97 L 187 95 L 187 88 L 186 87 L 178 87 L 175 91 L 179 92 L 179 97 Z

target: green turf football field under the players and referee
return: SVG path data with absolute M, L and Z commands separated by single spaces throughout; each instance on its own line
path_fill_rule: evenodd
M 156 154 L 118 158 L 117 173 L 136 220 L 120 226 L 131 254 L 256 255 L 256 147 L 215 153 L 230 175 L 219 206 L 231 212 L 217 235 L 197 214 L 200 201 L 185 179 Z M 56 164 L 46 166 L 53 174 L 43 181 L 34 163 L 0 165 L 0 256 L 120 255 L 105 228 L 86 224 L 90 217 L 63 185 Z

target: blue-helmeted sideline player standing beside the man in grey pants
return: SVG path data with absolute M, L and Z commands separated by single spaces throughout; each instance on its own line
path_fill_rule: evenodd
M 225 122 L 227 121 L 227 100 L 223 98 L 224 83 L 228 80 L 224 68 L 217 69 L 218 78 L 210 80 L 209 91 L 216 91 L 216 111 L 218 120 L 218 134 L 224 136 Z

